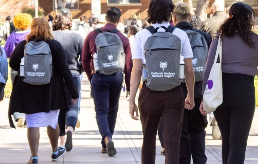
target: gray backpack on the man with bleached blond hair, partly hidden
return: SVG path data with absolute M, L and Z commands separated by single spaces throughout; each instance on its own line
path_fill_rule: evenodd
M 203 80 L 203 72 L 208 56 L 208 45 L 205 38 L 194 30 L 186 30 L 193 51 L 193 71 L 195 82 Z

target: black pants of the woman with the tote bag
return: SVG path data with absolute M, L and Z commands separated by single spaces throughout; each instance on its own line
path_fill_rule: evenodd
M 243 164 L 255 110 L 254 78 L 222 74 L 223 103 L 214 112 L 222 136 L 223 164 Z

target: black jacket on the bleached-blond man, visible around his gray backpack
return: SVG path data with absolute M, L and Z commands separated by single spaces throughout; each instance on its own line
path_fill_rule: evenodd
M 197 30 L 195 28 L 192 27 L 192 25 L 188 22 L 180 22 L 176 25 L 177 28 L 180 28 L 181 30 L 194 30 L 198 33 L 200 33 L 206 40 L 207 42 L 207 45 L 208 45 L 208 48 L 210 48 L 210 45 L 211 45 L 211 37 L 210 35 L 208 35 L 207 33 L 201 31 L 201 30 Z M 194 85 L 194 98 L 199 98 L 199 99 L 202 99 L 202 81 L 198 81 L 195 83 Z M 187 88 L 186 88 L 186 84 L 185 83 L 182 83 L 182 88 L 184 90 L 184 97 L 186 98 L 187 96 Z

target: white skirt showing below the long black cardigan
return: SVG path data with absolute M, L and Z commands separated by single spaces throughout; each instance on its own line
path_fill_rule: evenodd
M 27 122 L 27 128 L 32 127 L 52 127 L 53 129 L 56 129 L 57 122 L 58 122 L 58 115 L 59 115 L 59 109 L 58 110 L 51 110 L 49 113 L 46 112 L 39 112 L 34 114 L 26 114 L 26 122 Z

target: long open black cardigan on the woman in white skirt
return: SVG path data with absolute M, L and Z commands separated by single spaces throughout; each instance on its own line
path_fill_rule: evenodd
M 73 82 L 71 71 L 68 68 L 66 55 L 62 45 L 56 40 L 47 40 L 52 53 L 54 75 L 50 83 L 34 86 L 23 82 L 24 77 L 16 76 L 9 105 L 9 122 L 14 127 L 11 115 L 14 112 L 33 114 L 50 112 L 50 110 L 69 109 L 64 90 L 63 79 L 71 92 L 72 98 L 79 98 L 77 86 Z M 20 42 L 14 49 L 9 64 L 11 69 L 20 71 L 21 59 L 24 56 L 26 41 Z M 11 120 L 10 120 L 11 119 Z

